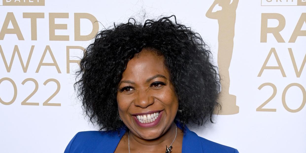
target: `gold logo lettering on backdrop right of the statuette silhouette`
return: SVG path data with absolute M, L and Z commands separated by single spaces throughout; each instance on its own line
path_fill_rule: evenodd
M 306 6 L 306 0 L 261 0 L 261 6 Z M 269 11 L 270 12 L 270 11 Z M 295 72 L 296 78 L 300 78 L 302 71 L 304 69 L 305 63 L 306 63 L 306 54 L 304 55 L 304 48 L 299 48 L 297 50 L 294 50 L 292 47 L 295 47 L 296 45 L 294 45 L 296 43 L 297 39 L 299 40 L 300 44 L 305 44 L 304 40 L 306 36 L 306 30 L 302 30 L 303 24 L 306 22 L 306 13 L 301 13 L 301 14 L 296 14 L 295 11 L 290 11 L 290 13 L 295 13 L 295 15 L 300 16 L 298 20 L 294 21 L 296 22 L 295 27 L 290 27 L 289 24 L 289 28 L 288 24 L 285 30 L 285 26 L 286 26 L 286 20 L 285 17 L 280 14 L 280 13 L 261 13 L 261 27 L 260 27 L 260 43 L 270 43 L 273 42 L 275 43 L 275 41 L 277 43 L 282 43 L 282 47 L 278 47 L 278 46 L 271 46 L 271 49 L 268 49 L 270 51 L 268 51 L 267 53 L 267 57 L 263 62 L 263 65 L 261 66 L 261 69 L 259 70 L 258 76 L 257 77 L 262 77 L 263 72 L 266 71 L 274 71 L 275 72 L 275 76 L 282 76 L 282 77 L 287 77 L 286 72 L 282 66 L 282 63 L 284 64 L 291 64 L 292 63 L 292 72 Z M 291 15 L 292 16 L 292 15 Z M 278 21 L 278 25 L 275 27 L 269 27 L 268 22 L 271 22 L 271 19 L 273 19 L 274 21 L 277 20 Z M 272 21 L 273 21 L 272 20 Z M 288 22 L 288 21 L 287 21 Z M 291 32 L 291 36 L 290 38 L 285 38 L 284 39 L 284 35 L 283 32 L 288 32 L 287 29 L 289 29 Z M 281 33 L 282 32 L 282 33 Z M 269 34 L 269 35 L 268 35 Z M 290 33 L 289 33 L 290 34 Z M 267 38 L 272 38 L 272 39 L 267 39 Z M 301 41 L 302 39 L 302 41 Z M 286 45 L 286 43 L 288 43 L 288 47 L 290 46 L 290 48 L 284 48 L 284 46 Z M 298 44 L 298 45 L 300 45 Z M 265 48 L 266 48 L 267 44 L 265 44 Z M 289 57 L 289 60 L 291 60 L 291 62 L 289 61 L 282 61 L 281 62 L 281 58 L 278 57 L 277 52 L 281 52 L 282 54 L 286 54 Z M 304 59 L 301 62 L 300 68 L 298 68 L 295 56 L 294 56 L 294 52 L 295 54 L 298 54 L 300 56 L 304 55 Z M 273 59 L 274 55 L 274 59 L 276 60 L 277 66 L 267 66 L 268 62 L 270 61 L 270 59 Z M 296 55 L 296 57 L 298 56 Z M 265 71 L 264 71 L 265 70 Z M 274 76 L 274 77 L 275 77 Z M 256 111 L 259 112 L 276 112 L 276 108 L 273 108 L 270 106 L 270 108 L 267 105 L 269 102 L 271 102 L 274 97 L 277 95 L 277 92 L 279 92 L 277 89 L 277 86 L 271 82 L 266 82 L 261 84 L 258 89 L 261 90 L 263 87 L 265 86 L 270 86 L 272 87 L 272 94 L 270 96 L 270 98 L 268 98 L 265 102 L 261 102 L 262 104 L 260 106 L 258 106 L 256 108 Z M 295 87 L 297 90 L 301 91 L 301 95 L 302 95 L 302 102 L 300 104 L 300 106 L 298 108 L 290 108 L 287 103 L 294 103 L 294 101 L 292 99 L 287 98 L 286 101 L 286 95 L 287 91 L 289 90 L 289 88 L 291 87 Z M 281 95 L 281 102 L 283 107 L 285 108 L 285 110 L 287 110 L 288 112 L 291 113 L 296 113 L 299 112 L 300 110 L 302 110 L 306 104 L 306 90 L 303 87 L 302 84 L 300 83 L 290 83 L 288 84 L 285 88 L 281 89 L 282 91 L 282 95 Z M 279 94 L 278 94 L 279 95 Z M 291 101 L 290 101 L 291 100 Z M 273 103 L 273 102 L 271 102 Z M 268 108 L 267 108 L 268 107 Z

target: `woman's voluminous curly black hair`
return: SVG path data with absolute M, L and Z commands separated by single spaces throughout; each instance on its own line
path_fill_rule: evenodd
M 174 21 L 171 21 L 174 17 Z M 130 21 L 134 21 L 134 23 Z M 116 95 L 127 63 L 143 48 L 154 48 L 164 56 L 178 96 L 177 117 L 183 125 L 212 121 L 220 80 L 211 52 L 201 36 L 178 24 L 174 15 L 144 24 L 130 18 L 100 31 L 84 52 L 74 84 L 82 108 L 100 130 L 125 127 L 119 119 Z

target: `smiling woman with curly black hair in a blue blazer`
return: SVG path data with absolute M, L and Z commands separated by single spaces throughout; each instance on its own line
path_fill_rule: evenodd
M 171 17 L 129 21 L 96 35 L 75 87 L 101 129 L 78 132 L 65 153 L 238 153 L 186 126 L 212 122 L 219 80 L 200 35 Z

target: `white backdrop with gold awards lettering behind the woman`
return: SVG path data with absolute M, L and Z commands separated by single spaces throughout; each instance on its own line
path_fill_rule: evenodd
M 305 153 L 306 0 L 1 0 L 0 152 L 63 152 L 97 130 L 73 89 L 84 48 L 114 22 L 173 14 L 222 77 L 216 123 L 192 130 L 241 153 Z

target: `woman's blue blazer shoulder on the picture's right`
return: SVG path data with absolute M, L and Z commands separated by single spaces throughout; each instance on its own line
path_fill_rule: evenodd
M 189 136 L 187 136 L 187 134 Z M 187 141 L 185 142 L 186 146 L 192 146 L 190 148 L 198 147 L 199 151 L 201 150 L 205 153 L 215 153 L 215 152 L 238 153 L 237 149 L 207 140 L 205 138 L 198 136 L 195 132 L 189 130 L 186 133 L 186 137 L 188 137 Z

